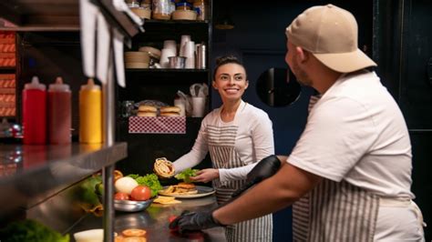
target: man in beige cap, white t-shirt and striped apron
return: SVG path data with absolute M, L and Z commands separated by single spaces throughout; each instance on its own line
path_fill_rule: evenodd
M 287 64 L 322 95 L 293 152 L 279 156 L 277 173 L 241 197 L 170 226 L 231 225 L 293 205 L 294 241 L 424 241 L 410 191 L 406 123 L 379 77 L 366 69 L 376 64 L 357 48 L 355 17 L 334 5 L 314 6 L 286 35 Z

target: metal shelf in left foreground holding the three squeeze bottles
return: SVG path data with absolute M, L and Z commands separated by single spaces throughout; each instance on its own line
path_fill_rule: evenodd
M 32 207 L 46 197 L 127 156 L 127 144 L 113 146 L 0 146 L 0 217 Z M 10 198 L 14 202 L 11 203 Z

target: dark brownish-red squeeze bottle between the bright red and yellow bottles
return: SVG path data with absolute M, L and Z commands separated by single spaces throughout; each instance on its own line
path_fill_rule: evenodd
M 57 77 L 56 83 L 48 88 L 48 142 L 69 144 L 72 122 L 71 93 L 69 86 Z

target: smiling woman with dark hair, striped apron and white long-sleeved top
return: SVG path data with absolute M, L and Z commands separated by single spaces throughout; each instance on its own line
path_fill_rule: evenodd
M 179 173 L 198 165 L 210 152 L 213 168 L 197 171 L 190 180 L 212 181 L 218 203 L 222 204 L 246 184 L 246 176 L 255 163 L 274 154 L 273 127 L 262 109 L 242 100 L 249 81 L 245 68 L 235 56 L 217 59 L 212 86 L 221 96 L 222 105 L 204 117 L 190 152 L 177 159 L 173 166 Z M 198 190 L 197 196 L 203 196 Z M 270 242 L 272 215 L 227 227 L 225 235 L 228 241 Z

